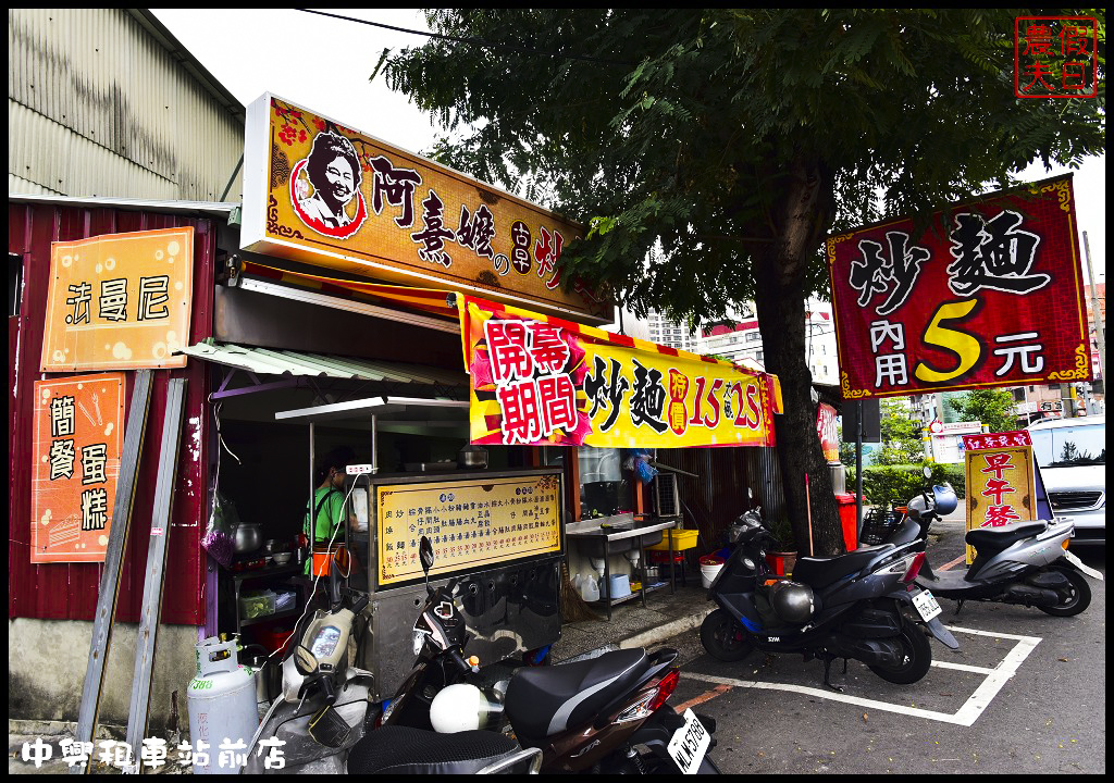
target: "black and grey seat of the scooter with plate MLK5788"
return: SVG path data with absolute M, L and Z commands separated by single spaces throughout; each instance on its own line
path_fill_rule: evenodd
M 519 736 L 541 740 L 586 723 L 648 671 L 644 649 L 618 649 L 597 658 L 520 668 L 507 687 L 505 711 Z

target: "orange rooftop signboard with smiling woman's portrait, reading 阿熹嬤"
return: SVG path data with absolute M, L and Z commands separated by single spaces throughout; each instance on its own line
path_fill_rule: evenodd
M 244 249 L 390 283 L 480 293 L 592 323 L 613 304 L 565 291 L 569 221 L 264 94 L 247 109 Z

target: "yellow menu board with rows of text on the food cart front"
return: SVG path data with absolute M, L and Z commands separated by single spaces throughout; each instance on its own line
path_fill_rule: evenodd
M 560 473 L 476 476 L 375 487 L 379 585 L 560 551 Z

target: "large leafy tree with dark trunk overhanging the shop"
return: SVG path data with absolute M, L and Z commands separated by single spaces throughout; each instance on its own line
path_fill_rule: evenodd
M 1105 10 L 1085 12 L 1091 100 L 1015 97 L 1018 13 L 443 9 L 429 12 L 443 38 L 383 68 L 447 128 L 439 160 L 590 226 L 565 247 L 565 285 L 701 323 L 755 302 L 794 535 L 808 546 L 808 472 L 817 552 L 834 554 L 804 335 L 825 235 L 1105 150 Z

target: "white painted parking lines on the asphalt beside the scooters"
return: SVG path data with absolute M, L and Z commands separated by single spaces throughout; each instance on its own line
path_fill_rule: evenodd
M 863 698 L 861 696 L 850 696 L 844 693 L 838 693 L 836 691 L 830 691 L 828 688 L 813 688 L 805 685 L 792 685 L 786 683 L 763 683 L 758 679 L 733 679 L 731 677 L 717 677 L 711 674 L 695 674 L 692 672 L 685 672 L 684 676 L 691 679 L 701 679 L 709 683 L 715 683 L 716 685 L 730 685 L 733 687 L 741 688 L 761 688 L 764 691 L 789 691 L 792 693 L 801 693 L 807 696 L 815 696 L 818 698 L 827 698 L 833 702 L 843 702 L 844 704 L 854 704 L 860 707 L 868 707 L 870 709 L 880 709 L 882 712 L 900 713 L 902 715 L 912 715 L 913 717 L 924 717 L 929 721 L 940 721 L 941 723 L 954 723 L 959 726 L 970 726 L 978 720 L 978 716 L 989 706 L 994 697 L 998 695 L 1003 686 L 1009 682 L 1009 678 L 1017 673 L 1018 667 L 1022 662 L 1029 656 L 1029 653 L 1040 644 L 1042 638 L 1039 636 L 1018 636 L 1016 634 L 998 634 L 988 630 L 977 630 L 974 628 L 957 628 L 954 626 L 948 626 L 951 632 L 960 634 L 974 634 L 977 636 L 990 636 L 994 638 L 1003 639 L 1016 639 L 1017 644 L 1010 648 L 1006 654 L 1006 657 L 994 668 L 986 668 L 983 666 L 969 666 L 967 664 L 952 664 L 946 660 L 934 660 L 932 666 L 937 668 L 956 669 L 960 672 L 971 672 L 975 674 L 986 674 L 986 679 L 979 684 L 962 706 L 956 713 L 941 713 L 935 709 L 921 709 L 920 707 L 910 707 L 903 704 L 891 704 L 889 702 L 879 702 L 873 698 Z

